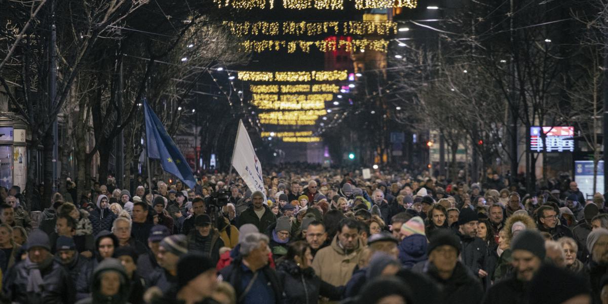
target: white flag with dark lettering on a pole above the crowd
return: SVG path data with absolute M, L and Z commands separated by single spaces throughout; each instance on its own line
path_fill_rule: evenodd
M 247 129 L 245 129 L 242 120 L 238 123 L 237 140 L 232 154 L 232 166 L 243 178 L 251 192 L 258 190 L 264 194 L 262 166 L 255 155 L 254 145 L 251 144 L 249 134 L 247 134 Z M 266 195 L 264 195 L 264 204 L 266 204 L 265 197 Z

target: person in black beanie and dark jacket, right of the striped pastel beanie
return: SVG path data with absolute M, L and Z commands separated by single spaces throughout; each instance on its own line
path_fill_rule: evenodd
M 482 284 L 465 264 L 458 260 L 460 240 L 449 230 L 440 230 L 430 239 L 429 260 L 416 264 L 412 271 L 420 272 L 438 285 L 437 303 L 481 303 Z

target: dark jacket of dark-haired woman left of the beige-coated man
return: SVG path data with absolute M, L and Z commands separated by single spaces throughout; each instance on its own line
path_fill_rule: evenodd
M 285 260 L 277 265 L 278 281 L 285 286 L 283 303 L 314 304 L 319 295 L 330 300 L 339 300 L 341 288 L 323 282 L 314 274 L 313 268 L 301 269 L 294 261 Z

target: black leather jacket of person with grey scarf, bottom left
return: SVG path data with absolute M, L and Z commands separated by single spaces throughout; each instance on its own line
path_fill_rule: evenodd
M 74 281 L 60 263 L 53 257 L 49 258 L 49 265 L 40 270 L 43 279 L 40 292 L 27 291 L 30 274 L 27 269 L 28 261 L 25 260 L 15 264 L 4 275 L 2 291 L 5 297 L 16 303 L 74 303 Z

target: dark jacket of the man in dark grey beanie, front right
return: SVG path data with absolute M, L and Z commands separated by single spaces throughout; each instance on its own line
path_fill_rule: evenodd
M 488 289 L 483 304 L 526 304 L 528 292 L 527 283 L 517 280 L 516 272 L 512 272 Z

